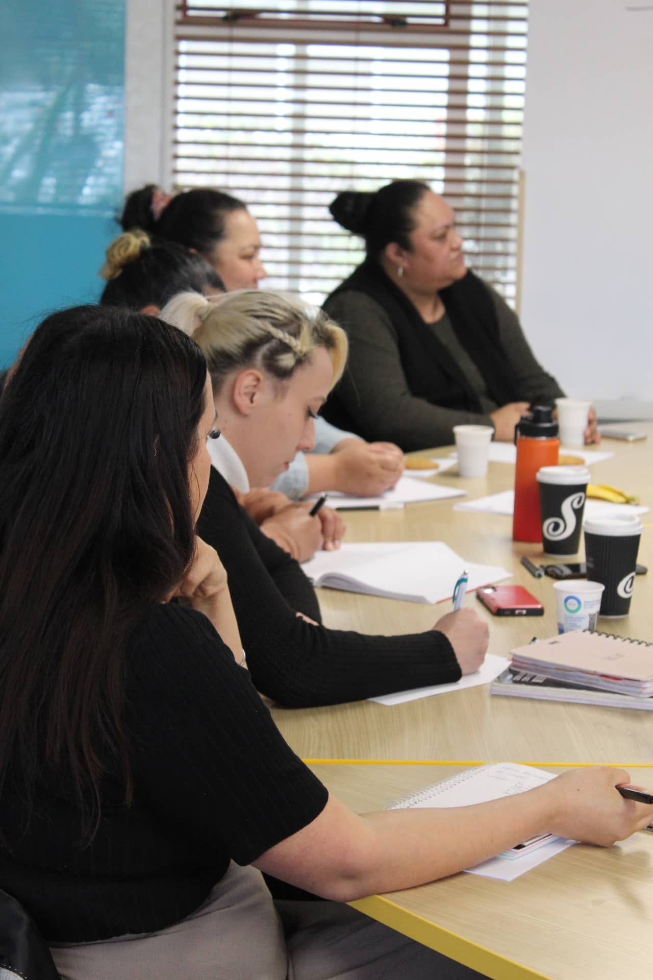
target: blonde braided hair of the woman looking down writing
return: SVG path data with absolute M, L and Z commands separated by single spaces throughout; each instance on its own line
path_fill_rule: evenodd
M 239 289 L 222 296 L 179 293 L 161 312 L 204 351 L 213 391 L 236 369 L 259 368 L 279 381 L 323 347 L 333 366 L 332 387 L 347 362 L 347 334 L 322 310 L 295 296 Z

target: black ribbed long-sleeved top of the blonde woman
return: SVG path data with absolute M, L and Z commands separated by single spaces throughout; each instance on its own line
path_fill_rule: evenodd
M 252 679 L 267 697 L 311 708 L 460 678 L 443 633 L 367 636 L 299 618 L 319 617 L 302 568 L 262 534 L 214 468 L 198 533 L 227 569 Z

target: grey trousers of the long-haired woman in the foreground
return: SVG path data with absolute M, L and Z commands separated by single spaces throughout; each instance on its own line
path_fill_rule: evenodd
M 203 906 L 142 936 L 53 946 L 63 980 L 471 980 L 454 963 L 349 906 L 273 902 L 232 863 Z

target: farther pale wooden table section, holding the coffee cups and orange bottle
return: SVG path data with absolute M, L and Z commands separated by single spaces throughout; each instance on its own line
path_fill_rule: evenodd
M 592 483 L 638 494 L 651 507 L 642 516 L 646 525 L 653 524 L 653 423 L 637 427 L 650 433 L 645 442 L 605 439 L 599 448 L 615 455 L 592 466 L 590 473 Z M 450 448 L 424 455 L 448 452 Z M 453 510 L 461 500 L 511 488 L 514 466 L 490 463 L 483 479 L 463 480 L 456 469 L 436 479 L 467 490 L 467 498 L 410 504 L 403 511 L 349 511 L 346 540 L 445 541 L 464 559 L 502 565 L 514 572 L 508 581 L 526 586 L 545 612 L 541 617 L 490 616 L 470 595 L 466 605 L 488 616 L 490 654 L 508 657 L 512 648 L 534 636 L 553 636 L 553 580 L 536 579 L 520 564 L 522 555 L 538 562 L 541 546 L 513 543 L 510 517 Z M 651 570 L 635 579 L 630 615 L 599 619 L 599 629 L 653 640 L 653 526 L 642 531 L 638 561 Z M 319 589 L 318 595 L 326 625 L 363 633 L 419 632 L 451 608 L 449 603 L 422 606 L 334 589 Z M 653 763 L 653 711 L 496 698 L 490 697 L 488 686 L 392 708 L 362 701 L 305 710 L 274 707 L 272 713 L 303 759 Z

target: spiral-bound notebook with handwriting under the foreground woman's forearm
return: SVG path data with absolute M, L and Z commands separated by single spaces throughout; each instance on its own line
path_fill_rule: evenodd
M 449 779 L 427 786 L 416 793 L 401 797 L 399 800 L 388 804 L 386 809 L 470 807 L 473 804 L 489 803 L 490 800 L 499 800 L 501 797 L 524 793 L 526 790 L 535 789 L 536 786 L 541 786 L 553 778 L 551 772 L 536 769 L 532 765 L 518 765 L 515 762 L 479 765 L 474 769 L 465 769 L 464 772 L 459 772 Z M 540 863 L 539 859 L 534 858 L 522 864 L 522 858 L 527 858 L 534 851 L 546 846 L 546 850 L 543 850 L 541 854 L 541 860 L 546 860 L 553 854 L 557 854 L 558 851 L 569 847 L 571 843 L 573 842 L 563 841 L 551 834 L 541 834 L 529 841 L 515 845 L 497 858 L 484 861 L 468 870 L 490 878 L 502 878 L 504 881 L 511 881 L 523 871 L 527 871 Z M 512 864 L 513 861 L 515 862 L 514 865 L 509 867 L 508 865 Z

